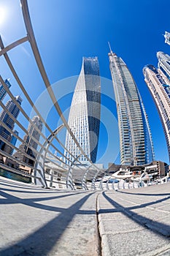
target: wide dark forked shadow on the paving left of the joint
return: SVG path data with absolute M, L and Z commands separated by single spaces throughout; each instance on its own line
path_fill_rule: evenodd
M 1 195 L 6 197 L 9 200 L 9 203 L 23 203 L 27 206 L 36 207 L 36 208 L 43 208 L 47 211 L 59 211 L 60 214 L 47 222 L 46 225 L 43 225 L 34 233 L 31 233 L 30 236 L 23 238 L 23 240 L 19 241 L 18 243 L 7 247 L 6 249 L 2 249 L 0 251 L 0 255 L 3 256 L 12 256 L 12 255 L 49 255 L 53 246 L 57 243 L 57 241 L 61 238 L 61 235 L 66 230 L 66 227 L 72 221 L 73 217 L 77 212 L 79 212 L 82 205 L 88 200 L 90 195 L 93 193 L 85 194 L 82 199 L 74 203 L 74 205 L 70 206 L 69 208 L 58 208 L 53 206 L 43 206 L 40 204 L 34 203 L 34 198 L 31 199 L 20 199 L 18 197 L 7 195 L 7 193 L 2 192 Z M 74 194 L 75 195 L 75 194 Z M 69 195 L 66 195 L 69 196 Z M 45 200 L 54 199 L 56 197 L 47 197 Z M 40 200 L 40 198 L 36 198 L 36 200 Z M 42 198 L 43 200 L 43 198 Z M 6 203 L 6 202 L 4 202 Z M 90 212 L 91 214 L 91 212 Z

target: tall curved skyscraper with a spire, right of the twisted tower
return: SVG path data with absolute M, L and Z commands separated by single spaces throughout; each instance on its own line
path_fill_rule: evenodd
M 154 158 L 150 127 L 134 78 L 112 50 L 109 67 L 117 104 L 121 165 L 150 163 Z

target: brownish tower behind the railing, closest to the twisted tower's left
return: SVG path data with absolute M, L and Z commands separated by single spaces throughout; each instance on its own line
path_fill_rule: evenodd
M 40 138 L 39 132 L 42 131 L 42 121 L 40 120 L 39 116 L 34 116 L 34 118 L 32 118 L 31 121 L 33 122 L 34 125 L 31 123 L 28 125 L 28 134 L 26 134 L 23 137 L 24 143 L 21 143 L 19 146 L 20 151 L 22 151 L 25 154 L 28 154 L 28 157 L 26 157 L 26 155 L 22 154 L 20 151 L 16 151 L 14 154 L 14 157 L 16 157 L 22 162 L 26 162 L 28 165 L 34 166 L 35 162 L 33 159 L 30 159 L 29 156 L 36 158 L 36 152 L 34 152 L 33 149 L 36 150 L 38 144 L 34 139 L 39 141 L 39 138 Z M 37 127 L 39 131 L 37 131 L 34 126 Z M 28 146 L 25 143 L 27 143 Z

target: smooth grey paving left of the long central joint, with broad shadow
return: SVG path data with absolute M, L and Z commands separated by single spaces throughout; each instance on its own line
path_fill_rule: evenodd
M 98 256 L 94 192 L 0 178 L 0 256 Z

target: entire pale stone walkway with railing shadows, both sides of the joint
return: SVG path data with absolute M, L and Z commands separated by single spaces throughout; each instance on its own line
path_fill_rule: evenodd
M 42 189 L 0 177 L 0 255 L 170 255 L 170 184 Z

